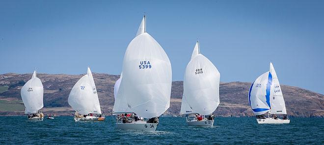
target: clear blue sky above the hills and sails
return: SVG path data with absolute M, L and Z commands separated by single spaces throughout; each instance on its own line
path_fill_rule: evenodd
M 324 0 L 0 0 L 0 73 L 120 74 L 144 12 L 173 80 L 198 38 L 222 82 L 271 61 L 281 84 L 324 94 Z

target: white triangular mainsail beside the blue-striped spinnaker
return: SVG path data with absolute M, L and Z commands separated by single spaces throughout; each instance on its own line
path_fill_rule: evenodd
M 279 80 L 277 74 L 275 73 L 272 63 L 270 63 L 270 73 L 272 75 L 272 85 L 270 93 L 270 114 L 287 114 L 285 100 L 283 98 Z

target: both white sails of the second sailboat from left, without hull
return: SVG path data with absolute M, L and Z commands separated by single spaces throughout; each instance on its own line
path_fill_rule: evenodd
M 101 114 L 98 95 L 92 81 L 92 73 L 88 68 L 87 74 L 79 79 L 70 92 L 68 103 L 80 114 Z

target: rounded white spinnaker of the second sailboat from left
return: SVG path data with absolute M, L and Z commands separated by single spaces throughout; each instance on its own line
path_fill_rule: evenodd
M 80 114 L 86 115 L 93 112 L 94 94 L 88 74 L 85 74 L 73 86 L 69 98 L 69 105 Z

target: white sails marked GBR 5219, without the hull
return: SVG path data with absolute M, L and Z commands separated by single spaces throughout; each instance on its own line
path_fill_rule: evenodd
M 213 113 L 219 105 L 220 73 L 214 64 L 199 53 L 199 42 L 192 52 L 184 76 L 184 94 L 192 111 L 202 115 Z

